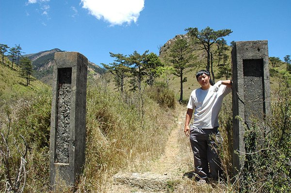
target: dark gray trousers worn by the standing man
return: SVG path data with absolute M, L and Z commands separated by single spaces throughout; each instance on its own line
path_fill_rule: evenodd
M 213 148 L 217 147 L 213 136 L 217 140 L 221 139 L 218 127 L 213 129 L 191 127 L 190 143 L 194 154 L 195 174 L 198 175 L 198 178 L 218 180 L 222 174 L 219 157 Z

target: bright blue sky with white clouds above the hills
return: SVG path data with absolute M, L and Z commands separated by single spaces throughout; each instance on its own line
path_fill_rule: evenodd
M 231 41 L 268 40 L 291 55 L 291 0 L 0 0 L 0 44 L 26 54 L 60 48 L 111 63 L 109 52 L 158 47 L 186 28 L 231 29 Z

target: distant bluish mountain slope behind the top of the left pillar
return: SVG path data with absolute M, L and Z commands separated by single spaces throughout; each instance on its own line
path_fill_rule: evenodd
M 23 55 L 23 57 L 28 57 L 32 60 L 33 70 L 35 73 L 34 77 L 43 81 L 44 83 L 51 85 L 52 74 L 53 74 L 53 60 L 54 53 L 65 52 L 59 48 L 54 48 L 51 50 L 41 51 L 35 54 Z M 94 77 L 99 77 L 101 74 L 105 73 L 105 70 L 97 66 L 93 62 L 88 62 L 88 71 Z

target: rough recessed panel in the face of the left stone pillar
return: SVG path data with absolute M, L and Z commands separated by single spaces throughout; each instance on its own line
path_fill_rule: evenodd
M 58 69 L 56 163 L 69 163 L 72 68 Z

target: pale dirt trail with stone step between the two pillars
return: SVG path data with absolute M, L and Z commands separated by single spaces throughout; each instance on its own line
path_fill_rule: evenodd
M 151 163 L 146 173 L 116 174 L 113 177 L 112 193 L 164 193 L 169 181 L 181 180 L 184 170 L 180 161 L 180 144 L 178 143 L 185 121 L 185 109 L 180 110 L 176 126 L 165 144 L 165 151 L 155 162 Z

